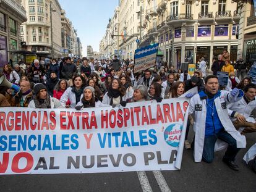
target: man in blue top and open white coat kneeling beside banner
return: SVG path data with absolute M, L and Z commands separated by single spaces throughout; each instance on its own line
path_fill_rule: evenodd
M 228 143 L 223 162 L 231 169 L 239 170 L 234 159 L 239 148 L 245 148 L 245 137 L 236 131 L 228 117 L 226 104 L 239 101 L 244 95 L 242 90 L 235 88 L 231 93 L 219 91 L 218 78 L 209 75 L 205 79 L 205 90 L 200 91 L 190 100 L 190 114 L 195 114 L 194 158 L 195 162 L 211 163 L 214 151 L 223 149 L 217 139 Z M 217 141 L 217 142 L 216 142 Z

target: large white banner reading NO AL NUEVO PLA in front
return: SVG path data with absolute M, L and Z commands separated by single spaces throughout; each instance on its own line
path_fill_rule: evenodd
M 177 98 L 81 111 L 1 108 L 0 174 L 180 169 L 188 107 Z

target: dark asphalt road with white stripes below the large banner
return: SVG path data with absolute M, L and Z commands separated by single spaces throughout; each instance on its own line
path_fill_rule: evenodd
M 190 131 L 192 132 L 192 131 Z M 190 133 L 192 138 L 192 133 Z M 88 173 L 56 175 L 1 175 L 0 191 L 256 191 L 256 174 L 242 160 L 256 142 L 256 133 L 247 136 L 247 148 L 237 155 L 239 172 L 221 161 L 216 152 L 211 164 L 195 163 L 193 151 L 184 150 L 179 171 Z

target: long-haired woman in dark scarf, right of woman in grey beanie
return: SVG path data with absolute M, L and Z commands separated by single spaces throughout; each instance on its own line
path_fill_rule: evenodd
M 103 104 L 108 104 L 111 106 L 117 106 L 121 104 L 126 106 L 126 101 L 124 95 L 126 94 L 126 88 L 121 83 L 121 80 L 114 78 L 111 82 L 111 86 L 108 89 L 108 92 L 105 93 L 103 97 Z

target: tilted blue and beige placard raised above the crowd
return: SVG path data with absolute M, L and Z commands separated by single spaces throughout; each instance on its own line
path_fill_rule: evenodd
M 134 56 L 134 73 L 154 67 L 156 64 L 157 51 L 158 43 L 136 49 Z

